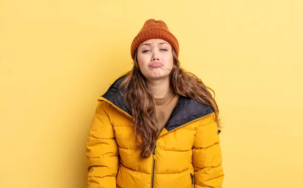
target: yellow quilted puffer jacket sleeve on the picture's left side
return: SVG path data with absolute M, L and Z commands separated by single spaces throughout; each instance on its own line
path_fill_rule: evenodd
M 99 101 L 86 142 L 87 188 L 116 188 L 118 155 L 108 103 Z

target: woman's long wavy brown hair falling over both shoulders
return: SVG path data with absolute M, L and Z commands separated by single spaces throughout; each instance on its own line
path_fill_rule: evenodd
M 215 93 L 211 88 L 197 78 L 194 74 L 186 72 L 180 67 L 178 57 L 172 48 L 174 64 L 172 72 L 170 73 L 170 85 L 173 91 L 181 96 L 191 99 L 197 99 L 200 103 L 211 105 L 215 109 L 215 116 L 218 128 L 220 127 L 220 120 L 218 118 L 219 109 L 215 99 L 209 90 Z M 134 66 L 128 73 L 120 85 L 120 91 L 128 104 L 132 119 L 131 123 L 134 128 L 138 148 L 141 151 L 142 158 L 148 158 L 153 152 L 158 137 L 158 115 L 156 110 L 156 103 L 153 95 L 149 91 L 146 79 L 140 72 L 137 50 L 135 51 Z

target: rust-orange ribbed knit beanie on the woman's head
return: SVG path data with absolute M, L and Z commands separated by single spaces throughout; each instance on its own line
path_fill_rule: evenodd
M 132 41 L 130 54 L 133 60 L 135 59 L 135 50 L 137 47 L 149 39 L 163 39 L 168 41 L 174 48 L 177 56 L 179 55 L 179 42 L 177 38 L 169 32 L 167 25 L 162 20 L 156 21 L 149 19 L 144 23 L 142 29 Z

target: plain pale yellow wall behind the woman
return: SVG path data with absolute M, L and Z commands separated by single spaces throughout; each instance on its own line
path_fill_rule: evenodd
M 145 20 L 216 92 L 225 188 L 303 187 L 303 3 L 0 0 L 0 187 L 86 186 L 96 99 Z M 180 187 L 181 188 L 181 187 Z

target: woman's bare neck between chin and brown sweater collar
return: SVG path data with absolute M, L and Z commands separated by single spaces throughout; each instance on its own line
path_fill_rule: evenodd
M 147 87 L 153 97 L 163 98 L 170 91 L 169 77 L 167 79 L 147 81 Z

